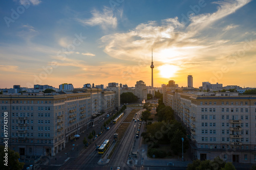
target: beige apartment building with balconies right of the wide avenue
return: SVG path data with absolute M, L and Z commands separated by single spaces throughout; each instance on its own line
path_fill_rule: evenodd
M 194 158 L 256 163 L 256 95 L 177 89 L 165 100 L 190 131 Z

